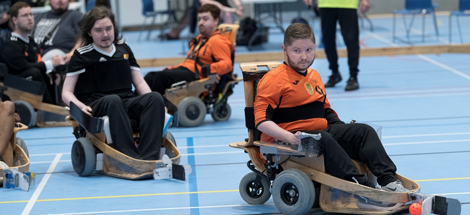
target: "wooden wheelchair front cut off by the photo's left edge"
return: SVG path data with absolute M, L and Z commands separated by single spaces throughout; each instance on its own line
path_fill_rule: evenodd
M 16 133 L 27 128 L 28 127 L 22 123 L 18 123 L 14 126 L 9 141 L 10 144 L 6 146 L 2 156 L 5 163 L 12 163 L 9 168 L 17 168 L 20 172 L 27 172 L 29 170 L 29 153 L 26 144 L 20 137 L 16 137 Z M 3 183 L 2 175 L 3 169 L 0 168 L 0 184 Z

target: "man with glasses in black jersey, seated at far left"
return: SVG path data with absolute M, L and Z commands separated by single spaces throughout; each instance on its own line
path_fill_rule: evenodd
M 47 71 L 65 64 L 68 57 L 54 55 L 49 60 L 41 60 L 37 44 L 28 36 L 34 28 L 34 15 L 29 4 L 23 1 L 14 3 L 10 8 L 10 16 L 14 31 L 1 50 L 1 60 L 7 65 L 8 73 L 46 83 L 47 90 L 42 101 L 52 103 L 49 91 L 54 86 L 49 81 L 50 73 Z

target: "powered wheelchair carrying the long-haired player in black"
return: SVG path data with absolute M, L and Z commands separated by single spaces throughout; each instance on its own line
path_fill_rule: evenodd
M 128 70 L 124 69 L 127 68 Z M 88 83 L 89 80 L 100 80 L 108 78 L 107 82 L 86 85 L 87 87 L 75 87 L 74 93 L 79 96 L 78 99 L 86 99 L 89 93 L 97 91 L 106 92 L 107 90 L 127 91 L 131 87 L 130 66 L 127 60 L 106 60 L 94 64 L 93 68 L 99 72 L 84 72 L 83 79 L 78 81 L 81 84 Z M 111 75 L 113 74 L 113 75 Z M 127 75 L 127 76 L 126 76 Z M 119 79 L 120 78 L 120 79 Z M 77 81 L 77 82 L 78 82 Z M 177 108 L 167 99 L 163 98 L 164 105 L 173 119 L 177 118 Z M 75 172 L 80 176 L 88 176 L 94 170 L 102 171 L 104 174 L 114 177 L 126 179 L 143 179 L 154 177 L 160 179 L 158 170 L 165 168 L 169 170 L 172 166 L 173 178 L 185 179 L 184 166 L 179 166 L 180 153 L 176 148 L 173 136 L 166 128 L 170 124 L 170 116 L 165 119 L 167 122 L 163 128 L 162 143 L 160 148 L 160 160 L 141 160 L 130 157 L 113 147 L 113 140 L 110 135 L 109 117 L 93 117 L 84 113 L 78 106 L 70 101 L 70 115 L 67 120 L 72 124 L 73 134 L 76 140 L 73 142 L 71 149 L 71 161 Z M 149 119 L 148 119 L 149 120 Z M 130 119 L 130 126 L 133 133 L 133 143 L 139 143 L 139 128 L 136 120 Z M 173 121 L 174 125 L 174 121 Z M 166 131 L 166 133 L 165 133 Z M 115 142 L 115 139 L 114 139 Z M 168 174 L 166 174 L 168 175 Z

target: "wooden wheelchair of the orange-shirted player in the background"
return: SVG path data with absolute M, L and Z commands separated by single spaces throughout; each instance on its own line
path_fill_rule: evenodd
M 220 24 L 218 29 L 226 35 L 230 41 L 235 42 L 238 24 Z M 234 49 L 233 49 L 234 50 Z M 234 53 L 232 54 L 232 62 Z M 218 94 L 214 95 L 215 83 L 210 78 L 199 80 L 181 81 L 165 90 L 164 96 L 179 110 L 179 124 L 185 127 L 193 127 L 202 124 L 206 113 L 210 113 L 214 121 L 226 121 L 230 117 L 231 109 L 227 103 L 228 96 L 233 93 L 233 87 L 242 78 L 236 77 L 232 72 L 221 77 L 225 81 L 222 89 L 218 89 L 222 97 L 218 100 Z M 201 99 L 201 96 L 205 98 Z

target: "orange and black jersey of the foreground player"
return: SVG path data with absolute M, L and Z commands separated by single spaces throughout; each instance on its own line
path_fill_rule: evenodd
M 280 64 L 261 78 L 256 90 L 256 127 L 266 120 L 288 131 L 323 130 L 328 126 L 325 108 L 331 107 L 320 75 L 314 69 L 301 73 Z

